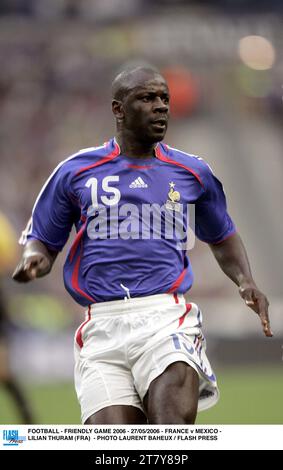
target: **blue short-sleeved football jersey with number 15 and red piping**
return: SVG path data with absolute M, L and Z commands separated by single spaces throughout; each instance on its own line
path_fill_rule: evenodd
M 222 184 L 201 158 L 159 143 L 155 156 L 130 158 L 111 139 L 59 164 L 35 202 L 23 240 L 60 251 L 77 235 L 64 282 L 81 305 L 161 293 L 193 283 L 188 225 L 218 243 L 235 232 Z

